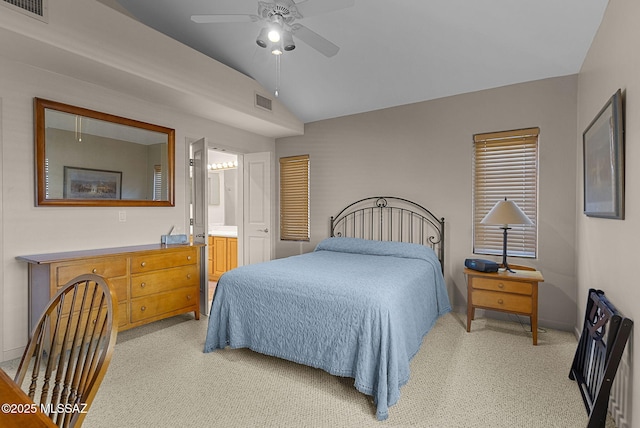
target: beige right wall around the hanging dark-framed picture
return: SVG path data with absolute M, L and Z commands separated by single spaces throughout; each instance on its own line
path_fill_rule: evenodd
M 582 214 L 582 164 L 578 164 L 577 277 L 578 316 L 583 316 L 589 288 L 602 289 L 627 317 L 640 321 L 640 285 L 635 273 L 640 236 L 640 55 L 638 40 L 640 3 L 610 0 L 600 29 L 591 45 L 578 79 L 578 159 L 582 161 L 581 136 L 608 98 L 621 88 L 625 104 L 625 219 L 607 220 Z M 577 322 L 580 322 L 578 318 Z M 635 351 L 638 328 L 627 352 L 632 362 L 635 397 L 632 415 L 640 425 L 640 353 Z

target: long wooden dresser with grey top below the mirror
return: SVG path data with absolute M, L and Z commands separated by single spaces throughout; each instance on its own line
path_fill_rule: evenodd
M 84 273 L 107 278 L 118 297 L 118 330 L 193 311 L 200 318 L 200 247 L 139 245 L 20 256 L 29 263 L 29 333 L 49 300 Z

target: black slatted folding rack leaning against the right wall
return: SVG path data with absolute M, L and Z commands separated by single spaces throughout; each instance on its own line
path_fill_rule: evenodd
M 609 394 L 633 321 L 624 318 L 601 290 L 590 289 L 584 326 L 569 378 L 578 383 L 589 414 L 587 428 L 604 428 Z

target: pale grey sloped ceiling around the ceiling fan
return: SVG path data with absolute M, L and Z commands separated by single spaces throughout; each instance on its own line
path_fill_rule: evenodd
M 273 93 L 275 57 L 255 43 L 263 23 L 196 24 L 190 19 L 213 13 L 257 15 L 257 0 L 99 1 L 112 6 L 117 1 L 144 24 Z M 607 2 L 355 0 L 353 7 L 296 21 L 340 51 L 327 58 L 294 36 L 296 49 L 281 57 L 278 98 L 308 123 L 575 74 Z

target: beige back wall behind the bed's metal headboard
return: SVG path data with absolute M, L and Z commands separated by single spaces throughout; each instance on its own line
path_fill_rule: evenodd
M 445 217 L 445 276 L 454 306 L 464 310 L 462 268 L 473 257 L 472 136 L 538 126 L 538 258 L 511 261 L 544 274 L 540 324 L 572 330 L 576 91 L 575 75 L 547 79 L 309 123 L 304 136 L 278 139 L 277 157 L 311 157 L 311 242 L 278 242 L 277 256 L 310 251 L 328 236 L 329 217 L 356 199 L 401 196 Z

